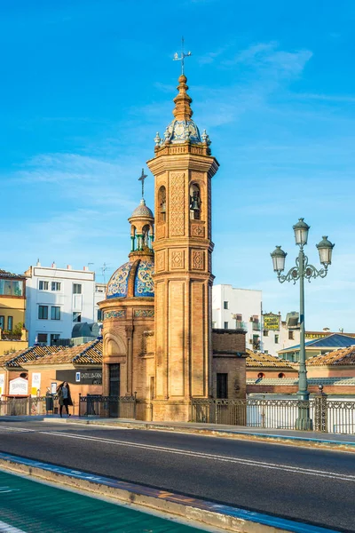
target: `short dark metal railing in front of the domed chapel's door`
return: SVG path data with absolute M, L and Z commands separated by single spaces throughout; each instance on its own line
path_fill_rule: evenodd
M 136 418 L 136 396 L 79 394 L 79 417 Z

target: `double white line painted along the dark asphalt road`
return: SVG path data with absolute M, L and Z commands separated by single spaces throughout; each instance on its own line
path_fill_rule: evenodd
M 0 429 L 2 429 L 0 427 Z M 300 473 L 306 475 L 313 475 L 317 477 L 325 477 L 330 479 L 335 479 L 338 481 L 355 481 L 355 475 L 337 473 L 337 472 L 327 472 L 327 470 L 314 470 L 312 468 L 302 468 L 300 466 L 291 466 L 291 465 L 278 465 L 277 463 L 266 463 L 264 461 L 256 461 L 255 459 L 244 459 L 241 457 L 231 457 L 231 456 L 220 456 L 216 454 L 203 453 L 200 451 L 190 451 L 187 449 L 177 449 L 177 448 L 168 448 L 165 446 L 157 446 L 153 444 L 141 444 L 138 442 L 129 442 L 129 441 L 116 441 L 114 439 L 106 439 L 101 437 L 94 437 L 91 435 L 81 435 L 81 434 L 66 434 L 57 431 L 41 431 L 35 429 L 27 429 L 20 427 L 10 427 L 6 428 L 11 431 L 22 431 L 25 433 L 37 433 L 44 435 L 56 435 L 58 437 L 63 437 L 67 439 L 77 439 L 80 441 L 91 441 L 99 442 L 100 444 L 114 444 L 115 446 L 126 446 L 128 448 L 138 448 L 138 449 L 149 449 L 151 451 L 159 451 L 163 453 L 170 453 L 175 455 L 182 455 L 186 457 L 196 457 L 209 459 L 212 461 L 219 461 L 223 463 L 233 463 L 245 466 L 256 466 L 257 468 L 268 468 L 271 470 L 281 470 L 288 473 Z

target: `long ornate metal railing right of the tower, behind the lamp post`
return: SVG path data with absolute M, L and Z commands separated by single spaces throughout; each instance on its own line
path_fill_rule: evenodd
M 355 433 L 355 402 L 327 400 L 315 396 L 309 402 L 297 399 L 216 400 L 193 398 L 191 421 L 226 426 L 247 426 L 268 429 L 295 429 L 296 418 L 306 410 L 314 431 L 324 433 Z

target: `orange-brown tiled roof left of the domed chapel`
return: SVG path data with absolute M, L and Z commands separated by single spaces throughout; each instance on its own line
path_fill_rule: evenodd
M 0 358 L 0 364 L 8 368 L 32 366 L 33 364 L 56 364 L 73 362 L 74 364 L 101 364 L 102 341 L 95 338 L 79 346 L 31 346 L 26 350 Z

